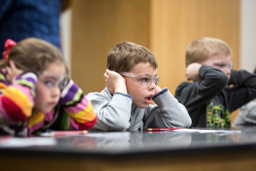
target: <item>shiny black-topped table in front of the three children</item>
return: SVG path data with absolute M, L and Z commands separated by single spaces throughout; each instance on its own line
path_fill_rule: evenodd
M 1 170 L 255 170 L 256 128 L 238 134 L 129 131 L 1 148 Z M 1 139 L 6 137 L 0 136 Z

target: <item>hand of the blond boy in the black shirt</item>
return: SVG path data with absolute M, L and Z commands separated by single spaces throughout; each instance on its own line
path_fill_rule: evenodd
M 188 65 L 186 70 L 186 78 L 192 81 L 201 81 L 202 78 L 199 76 L 199 69 L 202 65 L 198 63 L 191 63 Z

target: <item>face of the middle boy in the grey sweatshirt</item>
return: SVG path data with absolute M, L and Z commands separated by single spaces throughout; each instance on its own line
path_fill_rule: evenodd
M 154 70 L 150 63 L 139 63 L 135 65 L 129 73 L 134 75 L 146 74 L 151 75 L 153 78 L 157 75 L 157 70 Z M 126 80 L 127 93 L 132 96 L 132 104 L 139 108 L 146 108 L 151 103 L 151 99 L 154 97 L 156 85 L 154 82 L 149 87 L 141 86 L 134 83 L 134 80 L 129 76 L 124 76 Z M 143 78 L 142 78 L 143 80 Z

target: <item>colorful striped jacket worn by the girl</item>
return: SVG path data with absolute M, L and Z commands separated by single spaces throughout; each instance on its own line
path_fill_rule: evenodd
M 69 80 L 58 105 L 47 114 L 34 109 L 34 73 L 14 78 L 12 84 L 0 73 L 0 134 L 31 135 L 52 130 L 87 130 L 96 122 L 91 101 Z

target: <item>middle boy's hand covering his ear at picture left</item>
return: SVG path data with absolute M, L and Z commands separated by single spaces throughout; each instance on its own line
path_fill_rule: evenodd
M 114 95 L 115 92 L 127 94 L 126 80 L 122 75 L 107 69 L 103 76 L 105 77 L 106 87 L 112 95 Z

